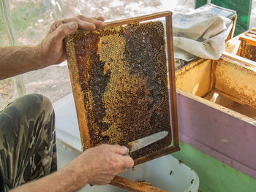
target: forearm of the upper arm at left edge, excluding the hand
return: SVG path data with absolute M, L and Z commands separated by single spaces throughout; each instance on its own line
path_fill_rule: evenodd
M 45 66 L 36 46 L 0 47 L 0 80 Z

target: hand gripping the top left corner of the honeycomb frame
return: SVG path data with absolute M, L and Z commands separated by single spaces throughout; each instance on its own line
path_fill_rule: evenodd
M 70 34 L 75 34 L 78 28 L 93 31 L 104 26 L 104 18 L 86 18 L 78 15 L 75 18 L 67 18 L 64 20 L 56 20 L 48 31 L 48 34 L 37 45 L 39 59 L 42 65 L 49 66 L 60 64 L 66 59 L 64 51 L 63 39 Z

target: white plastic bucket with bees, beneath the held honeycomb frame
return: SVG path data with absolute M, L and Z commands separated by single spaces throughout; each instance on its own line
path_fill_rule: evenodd
M 171 174 L 170 174 L 171 172 Z M 187 165 L 179 163 L 172 155 L 165 155 L 161 158 L 135 166 L 135 171 L 129 169 L 126 173 L 120 174 L 135 181 L 145 181 L 152 186 L 171 192 L 197 192 L 199 188 L 199 177 L 196 172 Z M 112 185 L 86 186 L 88 192 L 119 192 L 126 191 Z

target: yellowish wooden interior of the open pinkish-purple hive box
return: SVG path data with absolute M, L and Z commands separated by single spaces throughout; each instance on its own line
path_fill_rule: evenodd
M 176 86 L 230 110 L 256 118 L 256 62 L 224 53 L 198 59 L 176 71 Z

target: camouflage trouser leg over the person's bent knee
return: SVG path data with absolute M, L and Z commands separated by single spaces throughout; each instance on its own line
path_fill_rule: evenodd
M 2 190 L 9 191 L 56 171 L 56 160 L 50 101 L 45 96 L 29 94 L 8 104 L 0 112 Z

